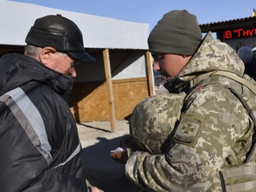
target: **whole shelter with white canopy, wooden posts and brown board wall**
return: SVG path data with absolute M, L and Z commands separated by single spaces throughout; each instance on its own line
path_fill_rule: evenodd
M 61 14 L 77 24 L 86 52 L 97 60 L 76 68 L 70 107 L 77 121 L 110 120 L 114 131 L 116 118 L 129 116 L 142 98 L 154 94 L 148 24 L 6 0 L 0 8 L 0 56 L 24 51 L 39 17 Z

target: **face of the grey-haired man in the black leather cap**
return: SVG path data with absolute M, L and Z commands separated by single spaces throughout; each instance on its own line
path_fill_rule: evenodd
M 75 62 L 76 62 L 76 59 L 73 59 L 70 56 L 61 56 L 55 53 L 51 58 L 51 62 L 49 62 L 46 66 L 64 75 L 75 77 L 76 76 L 76 70 L 74 68 Z

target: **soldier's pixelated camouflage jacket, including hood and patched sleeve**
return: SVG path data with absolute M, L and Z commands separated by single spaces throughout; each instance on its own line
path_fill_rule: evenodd
M 215 70 L 242 76 L 244 64 L 232 48 L 208 33 L 187 65 L 165 84 L 169 92 L 188 95 L 169 148 L 159 155 L 133 153 L 125 165 L 133 183 L 146 191 L 222 191 L 222 166 L 243 163 L 253 122 L 240 100 L 224 86 L 190 87 L 199 74 Z

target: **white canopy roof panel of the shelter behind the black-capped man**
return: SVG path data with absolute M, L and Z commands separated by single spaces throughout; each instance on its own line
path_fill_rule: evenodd
M 0 45 L 24 46 L 36 18 L 61 14 L 77 24 L 84 47 L 147 50 L 149 24 L 0 0 Z

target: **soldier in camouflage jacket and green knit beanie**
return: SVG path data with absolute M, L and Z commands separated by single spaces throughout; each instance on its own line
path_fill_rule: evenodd
M 222 168 L 246 161 L 254 123 L 233 93 L 235 84 L 246 94 L 242 84 L 218 74 L 244 77 L 244 63 L 210 32 L 202 39 L 196 16 L 186 10 L 166 13 L 150 33 L 148 46 L 154 71 L 166 77 L 164 87 L 187 94 L 181 119 L 165 152 L 152 155 L 127 148 L 112 157 L 126 157 L 126 176 L 146 191 L 233 191 L 236 185 L 225 187 Z M 238 185 L 240 191 L 255 191 L 255 185 Z

